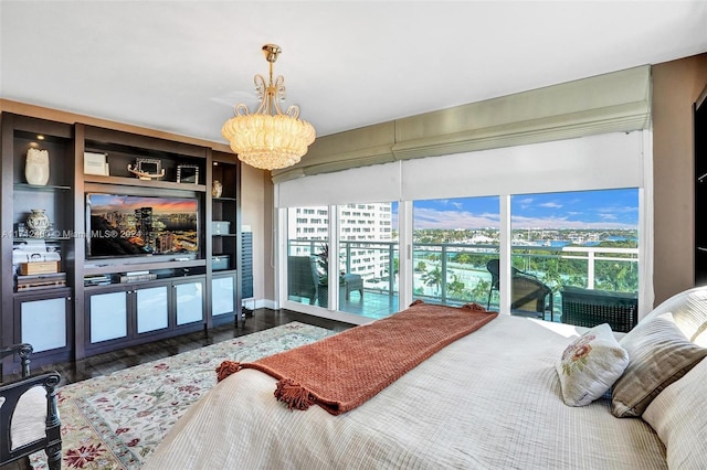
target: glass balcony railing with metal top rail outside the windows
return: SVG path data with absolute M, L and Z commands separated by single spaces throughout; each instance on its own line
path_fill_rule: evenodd
M 291 241 L 288 250 L 292 255 L 316 255 L 323 244 L 326 242 Z M 341 273 L 360 275 L 365 292 L 398 296 L 398 243 L 341 241 L 339 247 Z M 486 306 L 492 287 L 486 264 L 498 258 L 498 245 L 418 243 L 412 257 L 414 298 Z M 535 276 L 552 290 L 558 313 L 562 286 L 619 292 L 639 290 L 637 248 L 518 245 L 511 247 L 511 260 L 516 269 Z M 490 306 L 498 307 L 497 297 Z

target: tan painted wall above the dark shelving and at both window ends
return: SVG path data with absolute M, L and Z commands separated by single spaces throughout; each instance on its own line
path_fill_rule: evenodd
M 656 64 L 653 74 L 655 305 L 693 286 L 694 200 L 692 107 L 707 86 L 707 53 Z M 74 115 L 17 103 L 0 108 L 54 120 Z M 95 122 L 101 125 L 101 121 Z M 129 130 L 129 127 L 128 129 Z M 160 136 L 160 132 L 156 137 Z M 229 151 L 228 147 L 225 151 Z M 221 149 L 219 149 L 221 150 Z M 243 224 L 253 231 L 255 299 L 274 300 L 273 183 L 267 172 L 243 165 Z

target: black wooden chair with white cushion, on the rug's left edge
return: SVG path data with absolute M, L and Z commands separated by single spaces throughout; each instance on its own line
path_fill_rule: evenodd
M 40 450 L 51 470 L 62 467 L 62 435 L 55 389 L 56 372 L 30 375 L 32 346 L 27 343 L 0 349 L 0 357 L 18 354 L 22 378 L 0 385 L 0 466 Z

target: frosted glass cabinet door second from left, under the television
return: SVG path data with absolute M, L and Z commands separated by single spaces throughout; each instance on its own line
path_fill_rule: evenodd
M 116 340 L 128 335 L 128 292 L 91 296 L 91 342 Z

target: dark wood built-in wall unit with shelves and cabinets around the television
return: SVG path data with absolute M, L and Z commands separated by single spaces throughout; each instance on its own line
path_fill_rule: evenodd
M 28 330 L 23 322 L 27 321 L 28 316 L 22 310 L 23 305 L 42 309 L 42 316 L 45 313 L 43 311 L 45 308 L 51 310 L 46 313 L 53 316 L 53 321 L 61 324 L 64 332 L 64 335 L 59 339 L 61 341 L 57 340 L 61 346 L 52 350 L 51 354 L 41 355 L 41 361 L 46 361 L 45 363 L 54 360 L 64 361 L 67 357 L 80 360 L 99 352 L 181 334 L 190 329 L 197 331 L 213 328 L 219 322 L 242 320 L 240 286 L 236 284 L 240 271 L 235 270 L 241 267 L 240 243 L 236 243 L 236 233 L 240 233 L 241 167 L 234 154 L 217 151 L 209 146 L 182 142 L 179 139 L 170 140 L 82 122 L 55 122 L 7 111 L 2 111 L 1 117 L 0 140 L 2 140 L 3 158 L 0 174 L 4 184 L 0 199 L 3 201 L 6 212 L 2 217 L 2 229 L 8 236 L 6 236 L 0 258 L 2 258 L 3 276 L 9 279 L 8 282 L 2 284 L 0 292 L 0 297 L 8 299 L 3 302 L 1 316 L 2 338 L 0 340 L 3 343 L 12 343 L 27 335 Z M 39 133 L 48 136 L 48 139 L 41 143 L 42 150 L 50 153 L 50 179 L 46 185 L 30 184 L 24 175 L 28 148 L 35 145 Z M 84 173 L 85 152 L 107 153 L 109 171 L 106 173 L 108 174 Z M 165 177 L 155 180 L 137 178 L 128 170 L 137 159 L 159 160 Z M 186 177 L 184 168 L 194 167 L 198 169 L 198 179 L 192 179 L 191 183 L 177 182 L 178 177 Z M 225 192 L 220 193 L 220 197 L 212 197 L 213 180 L 223 183 Z M 193 200 L 198 204 L 198 252 L 86 258 L 91 253 L 86 247 L 86 236 L 93 234 L 91 228 L 96 231 L 105 228 L 102 224 L 96 228 L 94 227 L 96 224 L 91 223 L 88 204 L 92 200 L 86 200 L 86 194 L 91 193 Z M 46 234 L 43 237 L 30 236 L 39 235 L 39 232 L 17 231 L 18 226 L 27 225 L 28 214 L 31 214 L 35 207 L 44 210 L 50 218 L 52 229 L 42 232 Z M 129 216 L 134 216 L 136 221 L 139 220 L 140 224 L 145 225 L 144 229 L 152 231 L 154 227 L 149 227 L 145 221 L 146 214 L 147 211 L 137 215 L 130 213 Z M 212 236 L 215 231 L 212 231 L 210 224 L 214 220 L 222 225 L 220 225 L 221 233 Z M 229 233 L 231 231 L 234 233 Z M 97 237 L 93 236 L 93 238 Z M 160 244 L 167 243 L 171 242 L 160 239 Z M 13 254 L 17 254 L 18 249 L 23 248 L 25 244 L 44 245 L 48 250 L 60 253 L 61 268 L 65 273 L 63 284 L 59 280 L 44 284 L 22 279 L 20 286 L 24 290 L 17 290 L 18 266 Z M 217 268 L 225 269 L 213 269 L 212 253 L 219 253 L 220 255 L 215 256 L 223 257 L 218 260 Z M 21 259 L 24 260 L 24 256 L 17 256 L 18 261 Z M 119 282 L 120 276 L 129 271 L 148 271 L 155 275 L 156 279 Z M 232 282 L 228 282 L 232 284 L 229 289 L 221 287 L 226 284 L 224 281 L 215 285 L 212 282 L 212 279 L 229 276 L 233 278 Z M 96 284 L 87 284 L 87 280 Z M 202 310 L 198 319 L 189 320 L 188 318 L 186 321 L 182 318 L 183 312 L 180 313 L 184 307 L 183 296 L 178 302 L 176 292 L 186 292 L 184 289 L 190 289 L 191 284 L 197 286 L 193 290 L 202 296 Z M 175 292 L 169 293 L 167 301 L 169 324 L 173 328 L 150 331 L 149 334 L 134 331 L 129 338 L 115 338 L 101 344 L 92 342 L 92 328 L 98 325 L 102 318 L 110 317 L 114 308 L 109 301 L 103 305 L 98 301 L 92 302 L 92 296 L 98 298 L 97 296 L 104 293 L 120 290 L 128 292 L 158 286 L 175 287 L 175 289 L 171 287 L 167 289 L 169 292 Z M 212 314 L 212 309 L 215 308 L 213 289 L 221 289 L 215 298 L 217 302 L 223 300 L 232 303 L 228 312 L 218 311 L 218 319 Z M 105 299 L 112 298 L 112 296 L 105 297 Z M 35 301 L 46 303 L 35 305 Z M 145 312 L 146 316 L 151 313 L 151 311 Z M 127 314 L 125 321 L 130 329 L 135 325 L 135 314 L 140 312 L 128 307 Z M 38 321 L 41 323 L 43 318 Z M 32 334 L 39 333 L 32 332 Z

